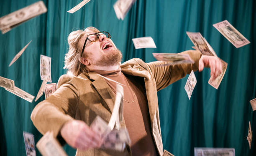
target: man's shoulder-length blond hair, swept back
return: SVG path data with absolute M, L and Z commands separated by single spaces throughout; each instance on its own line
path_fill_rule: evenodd
M 68 44 L 69 52 L 65 54 L 65 61 L 63 69 L 67 69 L 67 74 L 78 76 L 82 72 L 88 72 L 88 68 L 80 62 L 82 57 L 87 57 L 87 54 L 82 53 L 82 46 L 79 44 L 81 38 L 87 34 L 87 31 L 99 32 L 95 27 L 87 27 L 85 30 L 76 30 L 69 34 Z M 79 46 L 80 45 L 80 46 Z

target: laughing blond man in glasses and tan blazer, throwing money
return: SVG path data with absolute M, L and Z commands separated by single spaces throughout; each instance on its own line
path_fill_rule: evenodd
M 76 148 L 77 156 L 162 155 L 157 91 L 198 66 L 199 71 L 210 66 L 211 76 L 217 77 L 220 59 L 188 50 L 182 53 L 195 64 L 158 66 L 164 62 L 135 58 L 120 65 L 122 54 L 110 37 L 94 27 L 69 34 L 68 74 L 59 78 L 56 92 L 35 107 L 31 120 L 42 134 L 53 131 L 61 143 Z M 128 129 L 131 145 L 123 152 L 100 149 L 103 140 L 89 127 L 97 115 L 108 122 L 115 102 L 115 82 L 99 74 L 125 85 L 121 127 Z

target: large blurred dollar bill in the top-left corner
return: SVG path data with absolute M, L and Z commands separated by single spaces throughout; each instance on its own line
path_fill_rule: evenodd
M 41 15 L 47 11 L 43 1 L 38 1 L 20 10 L 12 12 L 8 15 L 0 17 L 0 30 L 2 34 L 10 31 L 13 27 L 16 27 L 33 17 Z

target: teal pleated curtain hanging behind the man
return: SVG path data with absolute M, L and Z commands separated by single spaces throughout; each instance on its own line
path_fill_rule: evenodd
M 194 147 L 235 148 L 236 156 L 256 155 L 256 114 L 249 101 L 256 98 L 256 1 L 255 0 L 137 0 L 125 19 L 118 20 L 116 0 L 91 0 L 73 14 L 67 11 L 82 0 L 44 0 L 48 11 L 10 32 L 0 34 L 0 76 L 36 96 L 40 86 L 40 54 L 51 57 L 51 77 L 56 83 L 66 74 L 64 54 L 73 30 L 89 26 L 110 32 L 123 53 L 155 61 L 152 52 L 178 53 L 192 49 L 186 31 L 201 32 L 228 68 L 218 90 L 207 82 L 210 69 L 195 72 L 197 85 L 189 100 L 184 90 L 187 77 L 158 93 L 164 149 L 175 156 L 193 156 Z M 31 5 L 36 0 L 1 0 L 0 16 Z M 228 20 L 251 44 L 234 47 L 212 25 Z M 132 38 L 151 36 L 156 49 L 135 50 Z M 9 63 L 30 40 L 22 56 Z M 38 102 L 29 103 L 0 88 L 0 155 L 26 156 L 23 131 L 42 135 L 30 114 Z M 248 123 L 253 131 L 249 149 Z M 69 156 L 75 150 L 64 146 Z M 38 150 L 37 155 L 40 156 Z

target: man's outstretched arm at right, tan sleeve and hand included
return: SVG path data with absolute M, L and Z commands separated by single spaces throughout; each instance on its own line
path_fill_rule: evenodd
M 198 50 L 187 50 L 185 52 L 181 52 L 180 54 L 189 54 L 195 63 L 175 64 L 171 66 L 159 66 L 161 64 L 166 64 L 164 61 L 148 63 L 148 66 L 150 67 L 156 81 L 157 91 L 164 89 L 169 84 L 172 84 L 179 79 L 182 79 L 186 76 L 186 74 L 190 74 L 192 70 L 195 72 L 200 69 L 199 71 L 201 72 L 204 67 L 210 67 L 211 75 L 213 76 L 218 75 L 222 70 L 222 64 L 218 57 L 202 56 L 201 52 Z

